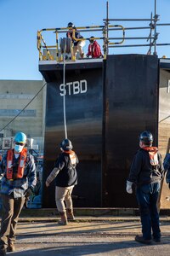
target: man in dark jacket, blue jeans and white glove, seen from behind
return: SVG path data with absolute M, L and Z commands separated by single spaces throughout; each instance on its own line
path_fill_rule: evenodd
M 157 201 L 164 168 L 161 154 L 158 148 L 152 147 L 152 143 L 153 136 L 150 131 L 143 131 L 139 136 L 140 148 L 133 158 L 126 188 L 127 193 L 132 194 L 133 184 L 136 186 L 143 236 L 136 236 L 135 241 L 144 244 L 150 244 L 152 236 L 154 241 L 161 241 Z

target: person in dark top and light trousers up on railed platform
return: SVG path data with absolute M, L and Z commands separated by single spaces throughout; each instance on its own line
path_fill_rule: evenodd
M 76 26 L 74 26 L 74 24 L 72 22 L 69 22 L 67 26 L 69 28 L 69 31 L 66 33 L 66 37 L 71 38 L 71 40 L 72 40 L 72 44 L 73 44 L 72 55 L 76 58 L 77 53 L 79 53 L 81 58 L 83 58 L 84 52 L 83 52 L 82 48 L 85 46 L 86 42 L 85 42 L 85 40 L 78 40 L 78 41 L 75 40 L 75 38 L 81 39 L 83 37 L 80 34 L 80 32 L 77 31 Z M 75 30 L 75 38 L 73 38 L 73 29 Z

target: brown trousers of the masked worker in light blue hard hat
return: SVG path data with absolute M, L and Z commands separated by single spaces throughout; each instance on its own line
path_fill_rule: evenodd
M 8 243 L 14 243 L 16 225 L 20 211 L 26 201 L 25 197 L 15 198 L 12 195 L 1 195 L 3 214 L 0 231 L 0 247 L 7 247 Z

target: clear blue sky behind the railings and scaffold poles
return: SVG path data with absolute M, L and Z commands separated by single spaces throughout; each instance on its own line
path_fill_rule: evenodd
M 106 0 L 0 0 L 0 79 L 42 79 L 38 71 L 37 30 L 42 28 L 65 27 L 68 22 L 76 26 L 104 25 L 106 18 Z M 155 0 L 109 0 L 109 18 L 112 19 L 149 19 L 154 15 Z M 170 0 L 157 0 L 158 23 L 170 23 Z M 148 26 L 146 23 L 112 22 L 111 25 Z M 170 26 L 157 26 L 157 43 L 170 44 Z M 148 36 L 145 31 L 142 36 Z M 46 34 L 47 35 L 47 34 Z M 94 35 L 94 34 L 93 34 Z M 120 37 L 121 33 L 111 37 Z M 139 36 L 138 32 L 126 34 L 128 37 Z M 141 34 L 140 34 L 141 35 Z M 84 37 L 90 35 L 83 35 Z M 48 38 L 48 36 L 47 36 Z M 48 39 L 45 38 L 46 43 Z M 133 44 L 126 42 L 126 44 Z M 138 42 L 142 44 L 142 42 Z M 88 42 L 85 47 L 87 51 Z M 146 54 L 148 48 L 110 49 L 110 53 Z M 157 47 L 159 57 L 170 57 L 170 46 Z

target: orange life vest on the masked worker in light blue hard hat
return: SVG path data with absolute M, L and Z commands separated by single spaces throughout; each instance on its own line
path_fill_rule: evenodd
M 20 160 L 19 160 L 19 166 L 18 166 L 18 172 L 16 173 L 15 177 L 13 174 L 13 160 L 14 160 L 14 150 L 9 149 L 7 153 L 7 174 L 6 177 L 8 179 L 14 179 L 14 178 L 21 178 L 24 176 L 24 169 L 26 166 L 26 156 L 27 156 L 27 149 L 23 148 L 20 152 Z

